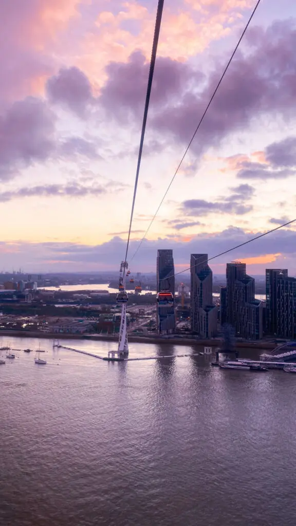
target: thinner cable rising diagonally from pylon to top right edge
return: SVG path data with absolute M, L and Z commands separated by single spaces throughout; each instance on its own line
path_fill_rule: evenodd
M 192 142 L 193 142 L 193 139 L 194 139 L 196 133 L 198 133 L 198 130 L 200 129 L 200 126 L 201 126 L 201 124 L 202 124 L 202 122 L 203 122 L 204 117 L 205 117 L 206 114 L 208 113 L 208 109 L 210 108 L 210 106 L 211 106 L 211 104 L 212 104 L 213 98 L 215 97 L 216 93 L 218 92 L 218 89 L 219 89 L 219 87 L 220 87 L 220 85 L 221 85 L 221 83 L 222 83 L 222 80 L 223 80 L 223 78 L 224 78 L 224 76 L 225 76 L 225 74 L 226 74 L 226 72 L 227 72 L 227 70 L 228 70 L 228 68 L 229 68 L 229 66 L 230 66 L 230 64 L 231 64 L 231 62 L 232 62 L 232 59 L 233 59 L 233 57 L 234 57 L 236 51 L 237 51 L 238 48 L 239 48 L 239 45 L 240 45 L 240 43 L 241 43 L 241 41 L 242 41 L 242 39 L 243 39 L 243 37 L 244 37 L 244 34 L 245 34 L 246 30 L 248 29 L 248 27 L 249 27 L 249 25 L 250 25 L 250 23 L 251 23 L 251 21 L 252 21 L 252 18 L 253 18 L 253 16 L 254 16 L 254 14 L 255 14 L 257 8 L 259 7 L 260 2 L 261 2 L 261 0 L 258 0 L 258 2 L 256 3 L 256 5 L 255 5 L 255 7 L 254 7 L 254 9 L 253 9 L 253 11 L 252 11 L 252 13 L 251 13 L 251 16 L 250 16 L 248 22 L 246 23 L 246 26 L 245 26 L 245 28 L 244 28 L 244 30 L 243 30 L 241 36 L 240 36 L 240 39 L 239 39 L 238 43 L 236 44 L 236 46 L 235 46 L 235 48 L 234 48 L 234 50 L 233 50 L 233 53 L 232 53 L 232 55 L 231 55 L 231 57 L 230 57 L 230 59 L 229 59 L 227 65 L 226 65 L 226 67 L 225 67 L 225 69 L 224 69 L 224 71 L 223 71 L 222 76 L 220 77 L 220 80 L 219 80 L 219 82 L 218 82 L 216 88 L 214 89 L 214 92 L 213 92 L 213 94 L 212 94 L 212 96 L 211 96 L 211 98 L 210 98 L 210 100 L 209 100 L 209 103 L 208 103 L 208 105 L 206 106 L 206 108 L 205 108 L 205 110 L 204 110 L 204 112 L 203 112 L 203 114 L 202 114 L 202 116 L 201 116 L 201 118 L 200 118 L 200 120 L 199 120 L 199 124 L 198 124 L 198 126 L 196 127 L 196 129 L 195 129 L 195 131 L 194 131 L 194 134 L 192 135 L 192 137 L 191 137 L 191 139 L 190 139 L 190 143 L 189 143 L 188 147 L 185 149 L 185 152 L 184 152 L 184 154 L 183 154 L 183 157 L 182 157 L 182 159 L 181 159 L 179 165 L 177 166 L 177 169 L 176 169 L 176 171 L 175 171 L 175 173 L 174 173 L 174 175 L 173 175 L 173 177 L 172 177 L 172 179 L 171 179 L 171 181 L 170 181 L 170 184 L 169 184 L 169 186 L 167 187 L 167 189 L 165 190 L 165 194 L 164 194 L 162 200 L 160 201 L 160 204 L 159 204 L 158 208 L 156 209 L 156 212 L 155 212 L 153 218 L 151 219 L 151 221 L 150 221 L 150 225 L 149 225 L 149 227 L 147 228 L 147 230 L 145 231 L 145 234 L 144 234 L 143 238 L 141 239 L 139 246 L 137 247 L 136 251 L 134 252 L 134 254 L 133 254 L 132 258 L 131 258 L 131 261 L 134 259 L 134 257 L 136 256 L 137 252 L 139 251 L 140 247 L 142 246 L 142 243 L 143 243 L 144 239 L 146 238 L 146 236 L 147 236 L 147 234 L 148 234 L 148 232 L 149 232 L 149 230 L 150 230 L 150 228 L 151 228 L 151 226 L 152 226 L 152 223 L 153 223 L 155 217 L 156 217 L 157 214 L 159 213 L 160 207 L 161 207 L 161 205 L 163 204 L 163 201 L 164 201 L 164 199 L 165 199 L 167 193 L 169 192 L 169 190 L 170 190 L 170 188 L 171 188 L 171 186 L 172 186 L 172 184 L 173 184 L 173 181 L 174 181 L 174 179 L 175 179 L 177 173 L 179 172 L 179 170 L 180 170 L 180 168 L 181 168 L 181 165 L 182 165 L 182 163 L 183 163 L 183 160 L 185 159 L 185 157 L 186 157 L 186 155 L 187 155 L 187 153 L 188 153 L 188 150 L 189 150 L 189 148 L 190 148 L 190 146 L 191 146 L 191 144 L 192 144 Z

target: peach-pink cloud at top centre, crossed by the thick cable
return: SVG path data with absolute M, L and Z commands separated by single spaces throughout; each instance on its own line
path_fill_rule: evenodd
M 76 64 L 98 89 L 106 80 L 104 67 L 109 62 L 127 62 L 135 50 L 140 50 L 147 60 L 151 55 L 155 12 L 139 2 L 117 4 L 119 11 L 116 13 L 110 10 L 98 14 L 96 29 L 86 35 L 84 53 Z M 160 57 L 184 62 L 202 53 L 212 42 L 229 35 L 241 24 L 241 13 L 251 1 L 223 2 L 222 9 L 220 1 L 205 1 L 202 2 L 202 16 L 196 13 L 199 4 L 183 0 L 177 6 L 170 3 L 164 8 Z

